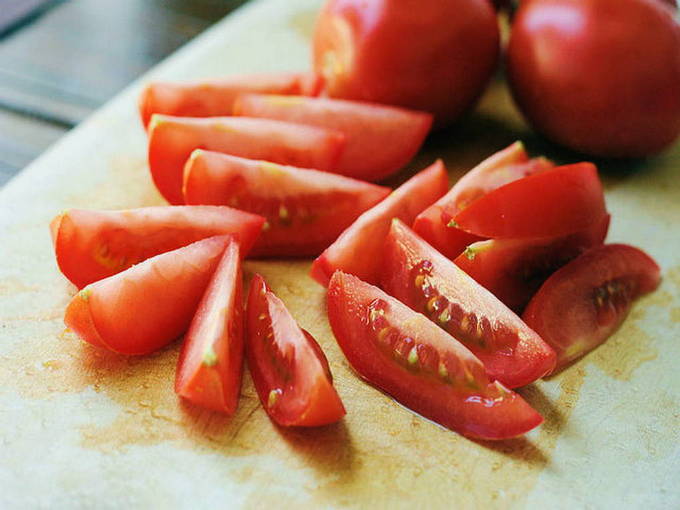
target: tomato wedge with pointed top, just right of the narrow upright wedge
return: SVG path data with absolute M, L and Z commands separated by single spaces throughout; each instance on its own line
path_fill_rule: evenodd
M 301 427 L 342 419 L 345 408 L 321 347 L 258 274 L 250 284 L 247 321 L 248 368 L 269 417 Z

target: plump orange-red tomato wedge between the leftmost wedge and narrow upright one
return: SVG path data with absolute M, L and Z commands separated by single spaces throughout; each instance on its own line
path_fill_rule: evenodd
M 66 309 L 66 326 L 92 345 L 149 354 L 186 331 L 229 236 L 156 255 L 92 283 Z

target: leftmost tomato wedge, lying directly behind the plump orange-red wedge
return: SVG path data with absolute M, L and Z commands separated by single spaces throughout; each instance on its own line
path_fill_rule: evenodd
M 238 237 L 244 256 L 265 219 L 230 207 L 168 206 L 122 211 L 70 209 L 50 225 L 61 272 L 78 288 L 199 239 Z

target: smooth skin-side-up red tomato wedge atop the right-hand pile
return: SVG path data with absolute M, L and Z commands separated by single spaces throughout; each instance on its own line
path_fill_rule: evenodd
M 455 215 L 453 224 L 490 237 L 559 237 L 585 230 L 607 214 L 592 163 L 565 165 L 510 182 Z

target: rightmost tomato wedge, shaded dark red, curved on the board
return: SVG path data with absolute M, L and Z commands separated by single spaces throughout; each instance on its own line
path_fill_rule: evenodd
M 659 266 L 642 250 L 599 246 L 548 278 L 523 317 L 555 349 L 561 368 L 604 342 L 633 300 L 656 289 L 660 280 Z

